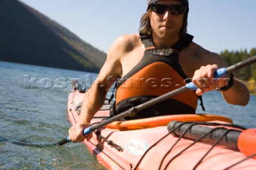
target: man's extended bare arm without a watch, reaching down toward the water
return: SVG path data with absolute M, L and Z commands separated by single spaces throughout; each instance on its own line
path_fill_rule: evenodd
M 86 92 L 82 104 L 81 113 L 77 123 L 69 129 L 69 138 L 73 142 L 84 141 L 83 129 L 90 126 L 90 122 L 105 102 L 106 95 L 115 80 L 122 74 L 121 56 L 124 53 L 122 38 L 118 38 L 109 49 L 107 60 L 103 65 L 97 80 L 94 81 L 90 90 Z M 87 135 L 90 140 L 92 134 Z

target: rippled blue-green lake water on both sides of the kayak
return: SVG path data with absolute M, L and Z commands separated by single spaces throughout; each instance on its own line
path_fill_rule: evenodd
M 0 73 L 0 169 L 105 169 L 83 143 L 51 145 L 68 135 L 71 80 L 90 88 L 97 74 L 9 62 L 0 62 Z M 226 104 L 217 91 L 203 99 L 206 113 L 256 128 L 255 96 L 245 107 Z

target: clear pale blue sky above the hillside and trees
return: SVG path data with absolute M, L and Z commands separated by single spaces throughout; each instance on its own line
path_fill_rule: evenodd
M 92 46 L 108 52 L 113 41 L 137 33 L 146 0 L 19 0 L 57 21 Z M 195 43 L 220 53 L 256 47 L 256 1 L 193 0 L 188 33 Z

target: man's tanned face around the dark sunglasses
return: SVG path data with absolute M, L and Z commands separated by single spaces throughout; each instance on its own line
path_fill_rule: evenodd
M 182 5 L 181 2 L 173 0 L 164 0 L 157 3 L 168 6 Z M 153 36 L 166 40 L 179 38 L 180 29 L 183 24 L 183 16 L 184 14 L 173 15 L 170 10 L 167 10 L 163 14 L 157 14 L 152 11 L 150 15 L 150 23 L 153 29 Z

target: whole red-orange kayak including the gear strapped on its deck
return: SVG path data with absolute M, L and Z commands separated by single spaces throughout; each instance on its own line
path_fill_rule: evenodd
M 68 96 L 74 125 L 85 93 Z M 91 124 L 109 117 L 106 103 Z M 116 121 L 84 141 L 108 169 L 256 169 L 256 129 L 232 124 L 228 117 L 205 114 L 158 116 Z

